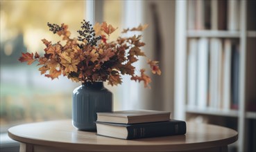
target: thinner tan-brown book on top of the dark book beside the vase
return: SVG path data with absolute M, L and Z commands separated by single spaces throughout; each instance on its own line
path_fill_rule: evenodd
M 169 111 L 128 110 L 97 113 L 97 121 L 120 124 L 135 124 L 143 122 L 162 122 L 170 120 Z

